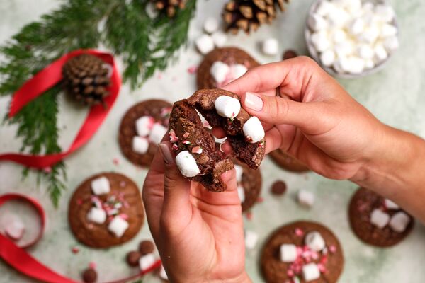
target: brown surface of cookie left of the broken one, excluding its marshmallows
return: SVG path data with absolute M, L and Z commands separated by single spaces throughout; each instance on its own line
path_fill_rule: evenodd
M 120 125 L 118 141 L 125 157 L 138 166 L 149 166 L 157 152 L 156 142 L 149 140 L 147 151 L 139 153 L 133 149 L 133 138 L 137 136 L 136 121 L 140 117 L 152 117 L 154 122 L 168 128 L 171 104 L 164 100 L 145 100 L 132 106 L 125 113 Z

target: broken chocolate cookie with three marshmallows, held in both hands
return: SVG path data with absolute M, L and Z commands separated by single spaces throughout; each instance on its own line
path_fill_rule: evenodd
M 202 89 L 173 105 L 169 137 L 176 151 L 176 164 L 186 178 L 208 190 L 222 192 L 226 184 L 220 175 L 234 167 L 230 156 L 215 146 L 215 138 L 204 127 L 200 115 L 211 127 L 222 127 L 232 146 L 232 156 L 253 169 L 264 156 L 264 129 L 257 117 L 241 108 L 239 96 L 221 89 Z

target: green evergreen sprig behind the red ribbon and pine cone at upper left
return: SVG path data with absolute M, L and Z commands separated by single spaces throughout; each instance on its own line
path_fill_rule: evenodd
M 156 70 L 165 69 L 176 51 L 187 42 L 188 27 L 196 10 L 196 0 L 172 19 L 164 13 L 150 18 L 149 0 L 68 0 L 40 21 L 26 25 L 0 47 L 0 96 L 11 96 L 25 81 L 63 54 L 77 49 L 105 45 L 120 55 L 125 64 L 124 81 L 140 86 Z M 62 151 L 57 143 L 57 98 L 55 86 L 31 101 L 6 122 L 18 125 L 21 151 L 54 154 Z M 28 168 L 23 176 L 28 175 Z M 48 181 L 47 190 L 57 206 L 66 168 L 63 162 L 39 172 Z

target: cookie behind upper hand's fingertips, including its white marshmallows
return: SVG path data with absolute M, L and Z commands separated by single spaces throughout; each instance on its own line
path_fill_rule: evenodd
M 236 47 L 217 48 L 205 55 L 198 68 L 198 89 L 221 88 L 257 66 L 259 63 L 244 50 Z

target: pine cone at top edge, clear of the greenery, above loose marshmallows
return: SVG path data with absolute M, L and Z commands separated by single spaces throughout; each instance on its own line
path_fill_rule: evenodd
M 285 11 L 285 2 L 289 0 L 231 0 L 223 12 L 226 29 L 234 34 L 239 29 L 245 33 L 256 31 L 263 23 L 271 23 L 276 18 L 276 6 Z

